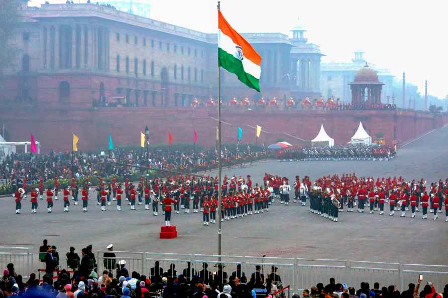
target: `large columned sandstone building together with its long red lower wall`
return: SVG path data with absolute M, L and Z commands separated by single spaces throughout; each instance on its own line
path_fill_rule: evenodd
M 191 142 L 193 129 L 200 144 L 215 143 L 215 109 L 190 107 L 193 98 L 216 96 L 215 34 L 94 4 L 28 8 L 25 0 L 16 1 L 23 4 L 23 22 L 12 43 L 20 52 L 16 67 L 5 73 L 0 95 L 8 140 L 27 140 L 32 132 L 42 152 L 69 151 L 71 134 L 76 133 L 78 147 L 87 150 L 103 148 L 107 133 L 115 144 L 138 144 L 140 131 L 148 125 L 151 143 L 167 142 L 168 130 L 174 142 Z M 223 100 L 318 97 L 322 54 L 307 43 L 304 31 L 295 27 L 292 39 L 280 33 L 243 34 L 263 58 L 262 93 L 222 71 Z M 103 106 L 118 100 L 122 106 Z M 263 126 L 260 142 L 280 137 L 303 142 L 323 123 L 336 143 L 345 143 L 359 121 L 372 136 L 383 132 L 387 142 L 407 140 L 444 123 L 441 116 L 394 110 L 236 107 L 225 109 L 222 116 L 225 142 L 236 141 L 237 126 L 243 128 L 243 142 L 255 142 L 257 124 Z

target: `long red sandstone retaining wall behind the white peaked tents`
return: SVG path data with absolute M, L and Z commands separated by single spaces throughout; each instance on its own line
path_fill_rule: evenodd
M 72 133 L 79 136 L 80 150 L 89 150 L 107 144 L 111 133 L 114 144 L 138 144 L 140 131 L 148 125 L 150 142 L 168 142 L 168 130 L 174 142 L 192 142 L 193 129 L 198 142 L 205 146 L 216 142 L 216 111 L 183 108 L 102 108 L 47 109 L 35 107 L 1 106 L 0 121 L 5 123 L 11 140 L 28 140 L 30 132 L 41 141 L 42 152 L 51 148 L 70 151 Z M 312 139 L 320 124 L 338 144 L 347 143 L 356 131 L 359 121 L 372 137 L 383 132 L 387 142 L 409 140 L 433 128 L 448 123 L 447 115 L 394 111 L 231 111 L 222 110 L 222 140 L 236 142 L 237 126 L 243 128 L 242 143 L 255 142 L 255 126 L 263 126 L 259 142 L 270 144 L 278 138 L 298 144 Z M 252 127 L 251 127 L 252 126 Z M 292 136 L 288 136 L 288 133 Z M 295 137 L 294 137 L 295 136 Z

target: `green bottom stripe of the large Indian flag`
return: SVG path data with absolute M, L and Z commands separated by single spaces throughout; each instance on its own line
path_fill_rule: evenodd
M 260 80 L 244 71 L 243 62 L 241 62 L 240 59 L 235 58 L 233 55 L 220 48 L 218 48 L 218 65 L 229 72 L 236 74 L 238 79 L 249 88 L 260 92 Z

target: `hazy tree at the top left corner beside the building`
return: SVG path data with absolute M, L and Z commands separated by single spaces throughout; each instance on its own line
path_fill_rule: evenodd
M 18 26 L 18 3 L 0 0 L 0 82 L 5 69 L 14 66 L 17 49 L 11 46 L 10 40 Z

